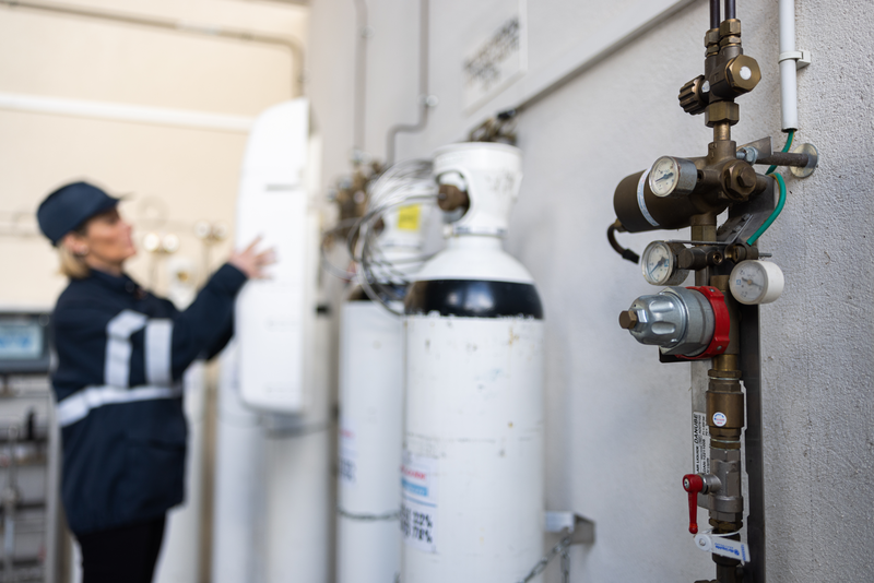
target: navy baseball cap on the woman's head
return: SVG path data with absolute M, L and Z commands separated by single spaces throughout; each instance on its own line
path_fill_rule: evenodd
M 57 247 L 64 235 L 92 216 L 115 209 L 119 200 L 94 185 L 73 182 L 46 197 L 36 211 L 36 221 L 43 235 Z

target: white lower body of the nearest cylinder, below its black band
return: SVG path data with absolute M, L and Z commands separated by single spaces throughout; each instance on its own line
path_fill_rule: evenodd
M 543 322 L 405 326 L 401 581 L 518 581 L 543 551 Z

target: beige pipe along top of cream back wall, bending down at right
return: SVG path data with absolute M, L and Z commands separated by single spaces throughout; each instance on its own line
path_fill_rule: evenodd
M 298 97 L 304 93 L 304 46 L 294 37 L 285 37 L 279 35 L 271 35 L 265 33 L 258 33 L 255 31 L 247 31 L 244 28 L 226 28 L 216 24 L 201 24 L 188 21 L 175 21 L 170 19 L 160 19 L 155 16 L 141 16 L 137 14 L 128 14 L 123 12 L 115 12 L 108 10 L 95 10 L 79 8 L 69 4 L 55 4 L 49 2 L 31 2 L 20 0 L 0 0 L 0 5 L 5 5 L 12 9 L 23 8 L 28 10 L 38 10 L 42 12 L 54 12 L 56 14 L 67 14 L 70 16 L 83 16 L 86 19 L 96 19 L 109 22 L 120 22 L 125 24 L 133 24 L 138 26 L 149 26 L 152 28 L 161 28 L 170 32 L 181 32 L 189 34 L 197 34 L 203 36 L 211 36 L 217 38 L 228 38 L 234 40 L 246 40 L 249 43 L 258 43 L 262 45 L 280 46 L 288 49 L 292 53 L 292 60 L 298 68 L 298 74 L 294 80 L 292 87 L 292 96 Z

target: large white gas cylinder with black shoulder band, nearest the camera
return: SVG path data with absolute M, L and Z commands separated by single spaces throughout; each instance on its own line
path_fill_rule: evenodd
M 518 581 L 542 555 L 543 310 L 501 249 L 520 166 L 504 144 L 435 154 L 470 205 L 405 300 L 403 583 Z

